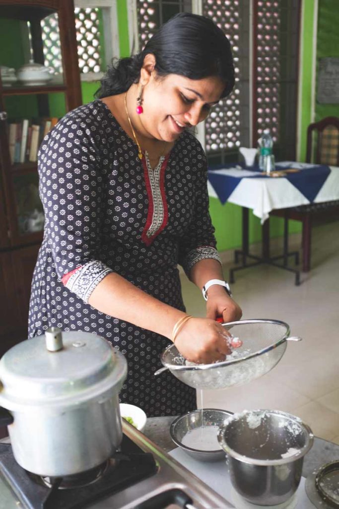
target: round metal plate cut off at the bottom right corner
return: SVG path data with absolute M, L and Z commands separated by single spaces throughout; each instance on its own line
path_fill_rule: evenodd
M 326 463 L 309 475 L 305 490 L 318 509 L 339 507 L 339 461 Z

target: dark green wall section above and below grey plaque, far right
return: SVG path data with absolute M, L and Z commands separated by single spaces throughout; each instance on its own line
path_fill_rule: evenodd
M 338 0 L 319 0 L 317 64 L 325 56 L 339 57 L 339 2 Z M 324 117 L 339 117 L 339 104 L 319 104 L 316 102 L 315 121 Z

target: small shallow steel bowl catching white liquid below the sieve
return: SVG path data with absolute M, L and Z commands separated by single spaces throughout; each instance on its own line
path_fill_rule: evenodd
M 226 454 L 223 449 L 217 450 L 202 450 L 192 449 L 182 443 L 183 437 L 191 430 L 201 428 L 202 425 L 202 414 L 203 414 L 203 425 L 204 426 L 218 426 L 220 428 L 226 420 L 233 415 L 232 412 L 227 410 L 219 410 L 214 408 L 204 408 L 201 410 L 193 410 L 184 415 L 177 417 L 171 424 L 170 435 L 173 442 L 181 447 L 185 453 L 192 456 L 195 460 L 199 461 L 219 461 L 226 458 Z M 215 437 L 218 437 L 218 431 Z

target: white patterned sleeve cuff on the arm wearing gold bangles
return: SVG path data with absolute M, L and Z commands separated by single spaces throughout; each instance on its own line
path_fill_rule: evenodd
M 65 286 L 80 299 L 88 302 L 90 294 L 110 272 L 113 271 L 107 265 L 99 260 L 93 260 L 74 271 Z

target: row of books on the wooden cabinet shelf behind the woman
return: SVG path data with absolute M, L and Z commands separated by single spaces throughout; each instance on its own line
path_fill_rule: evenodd
M 57 122 L 57 117 L 10 122 L 8 143 L 11 163 L 36 162 L 42 140 Z

